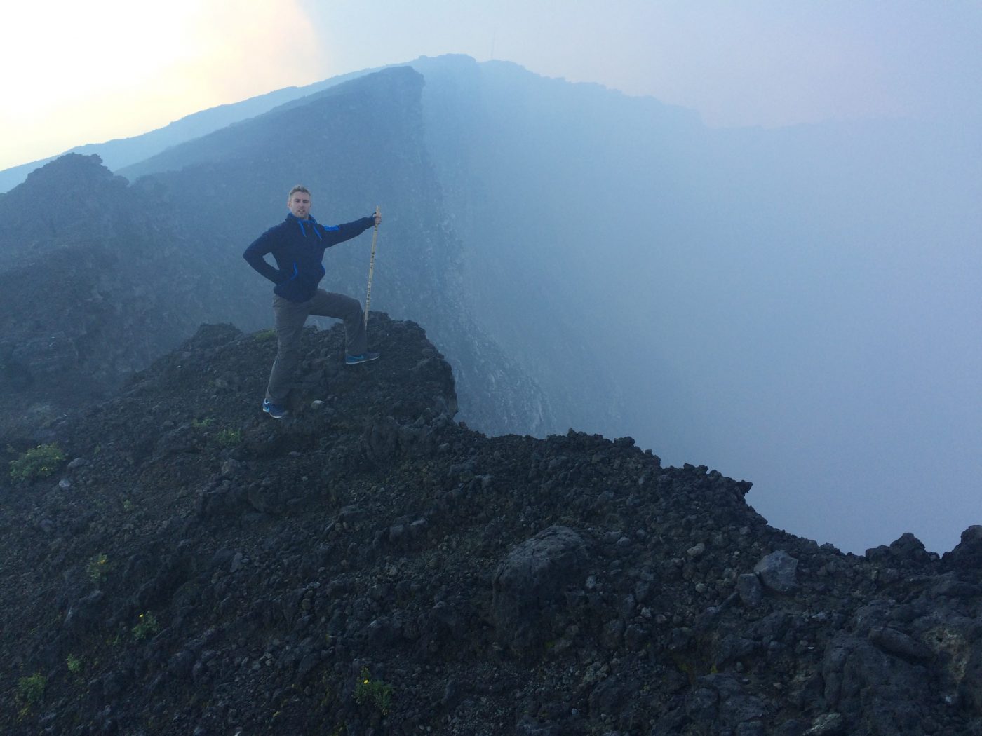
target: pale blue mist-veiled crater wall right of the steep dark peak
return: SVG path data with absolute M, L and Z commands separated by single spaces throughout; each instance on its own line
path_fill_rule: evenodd
M 955 545 L 982 473 L 978 145 L 711 130 L 503 62 L 412 66 L 475 311 L 557 430 L 752 477 L 772 521 L 853 552 Z

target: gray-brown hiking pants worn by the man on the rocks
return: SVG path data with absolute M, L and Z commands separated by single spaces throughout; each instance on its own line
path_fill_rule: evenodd
M 285 404 L 293 388 L 300 363 L 300 335 L 303 323 L 310 314 L 345 321 L 345 342 L 349 355 L 360 355 L 367 349 L 364 316 L 361 302 L 357 299 L 324 289 L 317 289 L 306 301 L 290 301 L 273 294 L 278 349 L 273 370 L 269 373 L 269 386 L 266 387 L 266 399 L 270 403 Z

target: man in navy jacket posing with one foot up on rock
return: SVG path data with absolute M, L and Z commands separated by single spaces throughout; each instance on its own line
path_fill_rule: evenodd
M 325 248 L 364 233 L 382 222 L 381 217 L 376 213 L 344 225 L 321 225 L 310 217 L 310 192 L 300 185 L 290 190 L 287 207 L 287 219 L 257 237 L 243 253 L 252 268 L 276 285 L 273 317 L 278 349 L 262 402 L 262 410 L 274 419 L 287 414 L 287 396 L 300 362 L 300 334 L 307 315 L 345 321 L 346 364 L 378 358 L 377 352 L 367 350 L 361 302 L 318 289 L 317 285 L 324 278 L 321 261 Z M 276 268 L 266 261 L 267 253 L 273 254 Z

